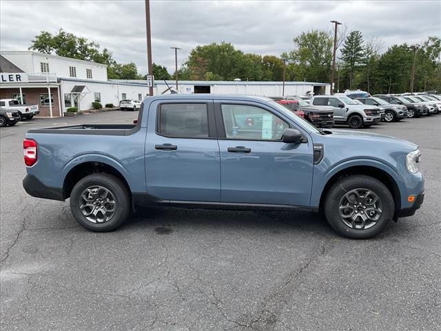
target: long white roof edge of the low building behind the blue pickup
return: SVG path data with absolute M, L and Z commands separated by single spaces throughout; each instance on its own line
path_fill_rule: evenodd
M 109 79 L 109 81 L 115 81 L 118 83 L 139 83 L 146 84 L 143 79 Z M 168 85 L 174 86 L 176 81 L 166 81 Z M 213 86 L 213 85 L 233 85 L 233 86 L 245 86 L 245 85 L 283 85 L 283 81 L 178 81 L 181 85 L 200 85 L 200 86 Z M 166 85 L 164 81 L 155 81 L 154 85 Z M 285 86 L 329 86 L 329 83 L 316 83 L 311 81 L 285 81 Z

